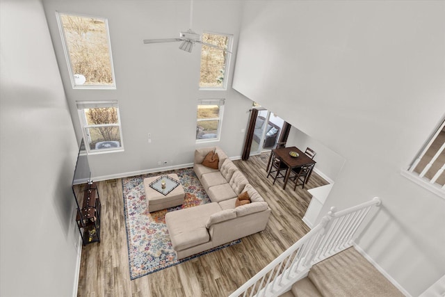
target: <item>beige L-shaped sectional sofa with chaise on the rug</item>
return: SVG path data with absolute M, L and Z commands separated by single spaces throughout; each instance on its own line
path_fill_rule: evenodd
M 218 169 L 202 165 L 205 156 L 211 151 L 218 154 Z M 193 169 L 211 203 L 171 211 L 165 215 L 165 223 L 178 259 L 266 228 L 270 215 L 267 202 L 223 150 L 219 147 L 195 150 Z M 244 191 L 248 192 L 250 203 L 236 207 L 238 195 Z

